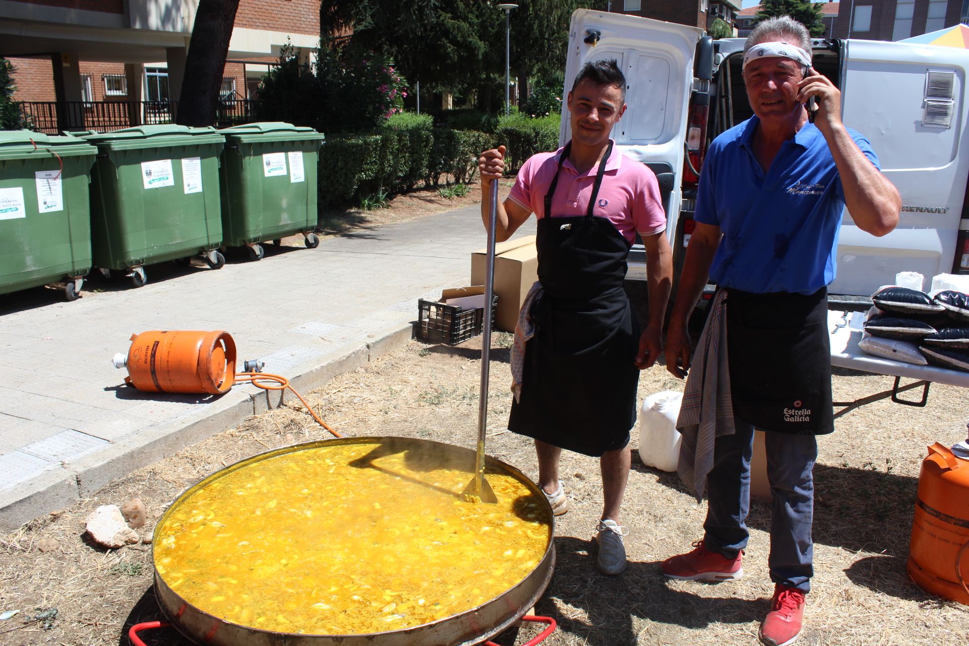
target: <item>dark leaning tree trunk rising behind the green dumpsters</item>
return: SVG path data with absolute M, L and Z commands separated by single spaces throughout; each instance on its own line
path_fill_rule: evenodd
M 175 122 L 183 126 L 215 124 L 222 73 L 233 36 L 239 0 L 200 0 L 185 60 Z

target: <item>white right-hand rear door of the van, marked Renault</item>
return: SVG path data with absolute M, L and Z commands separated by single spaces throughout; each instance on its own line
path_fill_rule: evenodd
M 953 47 L 845 41 L 845 125 L 871 141 L 902 196 L 898 227 L 861 231 L 846 209 L 831 293 L 869 295 L 899 271 L 931 277 L 953 270 L 969 175 L 969 52 Z

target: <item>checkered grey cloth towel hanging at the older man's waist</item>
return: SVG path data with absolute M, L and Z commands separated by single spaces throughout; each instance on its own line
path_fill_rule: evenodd
M 713 469 L 714 441 L 735 432 L 727 357 L 726 299 L 727 292 L 719 290 L 710 303 L 676 420 L 676 428 L 683 434 L 676 473 L 693 491 L 698 503 L 703 500 L 706 476 Z

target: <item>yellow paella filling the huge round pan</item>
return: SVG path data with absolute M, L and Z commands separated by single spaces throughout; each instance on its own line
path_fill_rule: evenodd
M 542 560 L 551 516 L 511 472 L 487 472 L 498 505 L 465 502 L 467 469 L 432 451 L 315 445 L 226 470 L 155 531 L 172 591 L 241 626 L 362 634 L 464 612 Z

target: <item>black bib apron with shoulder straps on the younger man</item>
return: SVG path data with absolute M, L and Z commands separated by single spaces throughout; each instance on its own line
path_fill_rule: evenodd
M 536 332 L 525 346 L 521 396 L 510 430 L 552 446 L 600 456 L 629 443 L 636 422 L 639 325 L 623 289 L 631 244 L 605 217 L 593 216 L 606 160 L 599 164 L 583 216 L 551 217 L 562 162 L 538 222 Z

